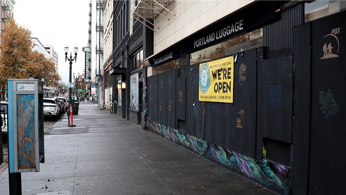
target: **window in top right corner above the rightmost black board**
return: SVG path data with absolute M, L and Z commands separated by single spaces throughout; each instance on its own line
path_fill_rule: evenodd
M 309 22 L 346 10 L 346 1 L 313 1 L 304 7 L 304 21 Z

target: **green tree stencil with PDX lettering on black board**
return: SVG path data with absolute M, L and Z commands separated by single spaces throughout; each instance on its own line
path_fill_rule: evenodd
M 334 115 L 335 113 L 339 112 L 338 105 L 336 104 L 333 94 L 330 93 L 331 91 L 328 90 L 328 92 L 325 94 L 324 91 L 320 91 L 320 104 L 322 113 L 326 114 L 325 118 L 328 118 L 330 115 Z

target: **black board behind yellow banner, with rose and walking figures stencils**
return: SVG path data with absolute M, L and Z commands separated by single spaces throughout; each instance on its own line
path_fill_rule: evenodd
M 205 139 L 253 158 L 256 138 L 256 55 L 257 49 L 234 55 L 233 103 L 204 102 Z

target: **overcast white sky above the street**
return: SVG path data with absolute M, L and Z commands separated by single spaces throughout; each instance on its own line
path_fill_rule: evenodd
M 53 45 L 58 54 L 58 74 L 63 82 L 69 82 L 69 61 L 65 62 L 64 47 L 68 56 L 78 46 L 77 62 L 72 63 L 72 73 L 83 73 L 83 47 L 88 46 L 88 0 L 16 0 L 13 17 L 18 25 L 26 25 L 43 45 Z M 73 75 L 72 75 L 73 80 Z M 72 81 L 73 82 L 73 81 Z

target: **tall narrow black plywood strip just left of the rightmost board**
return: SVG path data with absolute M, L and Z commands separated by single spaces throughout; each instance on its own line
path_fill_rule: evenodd
M 292 194 L 307 194 L 310 132 L 310 23 L 293 28 L 292 50 L 294 54 L 294 129 Z M 304 36 L 301 36 L 301 35 Z M 262 144 L 261 144 L 262 146 Z M 256 156 L 262 156 L 262 149 Z

